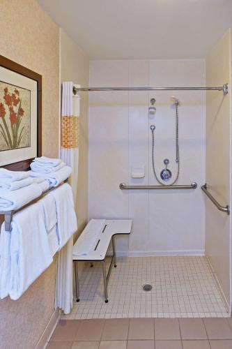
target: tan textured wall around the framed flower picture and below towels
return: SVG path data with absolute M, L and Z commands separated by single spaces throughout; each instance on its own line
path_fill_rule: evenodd
M 0 0 L 0 53 L 42 75 L 42 152 L 59 149 L 59 28 L 34 0 Z M 34 348 L 54 312 L 55 263 L 18 300 L 0 301 L 0 347 Z

